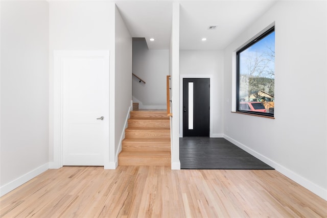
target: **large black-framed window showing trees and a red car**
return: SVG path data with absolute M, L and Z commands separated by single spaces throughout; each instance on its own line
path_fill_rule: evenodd
M 275 31 L 274 27 L 236 53 L 237 111 L 274 116 Z

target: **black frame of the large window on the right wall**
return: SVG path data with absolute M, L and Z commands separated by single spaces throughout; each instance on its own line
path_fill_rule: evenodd
M 245 113 L 245 114 L 253 114 L 253 115 L 260 115 L 260 116 L 267 116 L 267 117 L 274 117 L 274 113 L 267 112 L 258 112 L 258 111 L 249 111 L 249 110 L 241 110 L 240 108 L 240 53 L 247 50 L 256 42 L 259 42 L 261 39 L 265 38 L 272 32 L 275 32 L 275 26 L 271 27 L 263 34 L 259 35 L 246 45 L 244 45 L 241 49 L 236 52 L 236 112 Z

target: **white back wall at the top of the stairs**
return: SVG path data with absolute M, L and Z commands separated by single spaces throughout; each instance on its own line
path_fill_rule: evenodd
M 139 108 L 167 108 L 166 76 L 169 75 L 169 50 L 149 50 L 145 40 L 133 40 L 133 96 Z

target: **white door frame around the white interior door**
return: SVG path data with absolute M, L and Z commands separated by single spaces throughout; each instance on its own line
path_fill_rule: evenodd
M 87 58 L 97 58 L 103 59 L 105 71 L 108 72 L 107 78 L 108 80 L 108 96 L 109 94 L 109 50 L 99 50 L 99 51 L 75 51 L 75 50 L 56 50 L 54 51 L 54 87 L 53 87 L 53 96 L 54 96 L 54 120 L 53 120 L 53 159 L 54 162 L 51 164 L 51 168 L 60 168 L 63 166 L 63 69 L 62 62 L 64 58 L 74 58 L 74 57 L 87 57 Z M 108 99 L 109 103 L 109 99 Z M 105 108 L 108 111 L 108 114 L 105 114 L 106 117 L 109 118 L 109 104 Z M 108 125 L 105 127 L 105 131 L 107 131 L 107 136 L 105 139 L 105 148 L 104 148 L 104 168 L 106 168 L 106 163 L 109 160 L 109 120 Z

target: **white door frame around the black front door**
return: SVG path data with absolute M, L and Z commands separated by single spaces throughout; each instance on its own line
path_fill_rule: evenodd
M 179 137 L 183 137 L 183 79 L 187 78 L 205 78 L 209 79 L 209 84 L 210 84 L 210 118 L 209 118 L 209 137 L 213 137 L 213 119 L 212 119 L 212 103 L 213 103 L 213 86 L 212 86 L 212 81 L 213 81 L 213 75 L 201 75 L 201 74 L 184 74 L 179 76 Z

